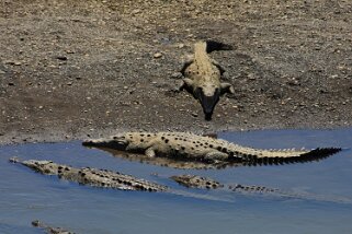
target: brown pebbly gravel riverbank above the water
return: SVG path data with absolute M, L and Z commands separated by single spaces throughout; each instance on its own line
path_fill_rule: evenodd
M 336 128 L 352 125 L 348 0 L 0 0 L 0 142 L 124 130 Z M 236 94 L 212 121 L 175 93 L 198 39 Z

